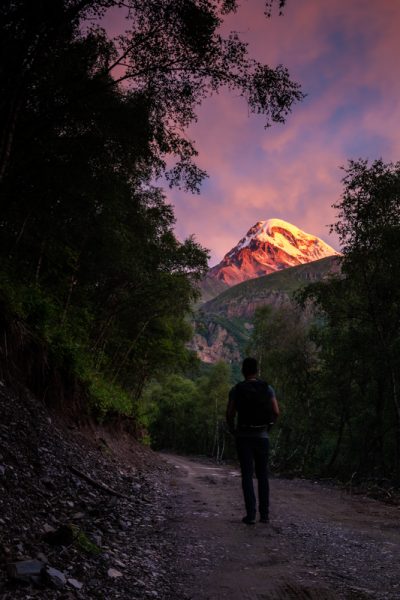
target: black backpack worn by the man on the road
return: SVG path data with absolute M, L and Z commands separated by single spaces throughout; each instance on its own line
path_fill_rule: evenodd
M 267 428 L 273 420 L 272 392 L 266 381 L 250 379 L 236 385 L 239 429 Z

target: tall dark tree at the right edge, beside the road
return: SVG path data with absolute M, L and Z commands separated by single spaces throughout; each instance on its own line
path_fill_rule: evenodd
M 339 408 L 339 454 L 358 473 L 399 476 L 400 163 L 350 161 L 335 204 L 342 274 L 304 294 L 320 310 L 321 358 Z

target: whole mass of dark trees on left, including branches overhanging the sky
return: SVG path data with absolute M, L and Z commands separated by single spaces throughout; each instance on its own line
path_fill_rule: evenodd
M 101 418 L 132 415 L 149 378 L 193 360 L 185 319 L 207 251 L 176 239 L 157 182 L 198 191 L 206 173 L 185 129 L 210 93 L 235 90 L 266 125 L 302 98 L 286 69 L 221 35 L 236 8 L 1 5 L 3 374 L 49 400 L 78 395 Z M 110 9 L 115 39 L 102 28 Z

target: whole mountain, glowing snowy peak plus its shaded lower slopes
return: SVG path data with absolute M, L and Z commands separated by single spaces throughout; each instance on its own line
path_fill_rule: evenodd
M 259 221 L 202 283 L 190 347 L 203 362 L 239 363 L 257 308 L 283 306 L 301 287 L 340 270 L 340 254 L 279 219 Z

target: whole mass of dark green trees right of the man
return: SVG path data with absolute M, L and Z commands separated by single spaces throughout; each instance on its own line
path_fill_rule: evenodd
M 252 350 L 276 386 L 275 464 L 400 476 L 400 164 L 351 161 L 333 229 L 341 274 L 260 310 Z

